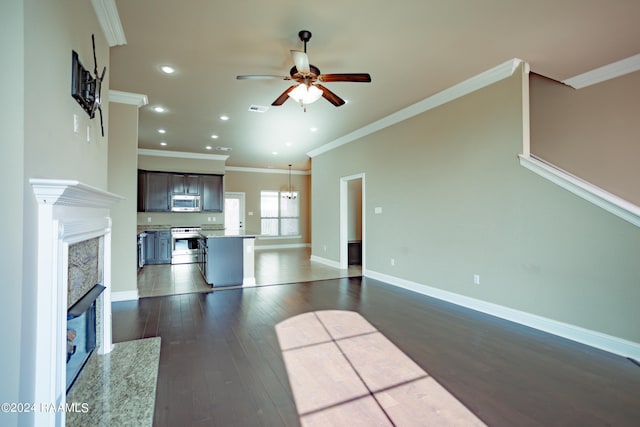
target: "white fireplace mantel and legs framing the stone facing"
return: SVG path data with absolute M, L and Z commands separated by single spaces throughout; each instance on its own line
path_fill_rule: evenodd
M 31 179 L 38 202 L 35 402 L 66 403 L 66 316 L 69 246 L 97 239 L 98 269 L 105 291 L 96 301 L 96 351 L 107 354 L 111 339 L 111 218 L 122 197 L 79 181 Z M 61 412 L 36 412 L 35 425 L 64 425 Z

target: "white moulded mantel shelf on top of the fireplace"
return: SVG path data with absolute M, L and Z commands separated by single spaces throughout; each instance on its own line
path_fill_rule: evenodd
M 108 208 L 124 197 L 79 181 L 32 178 L 29 183 L 38 203 L 90 208 Z

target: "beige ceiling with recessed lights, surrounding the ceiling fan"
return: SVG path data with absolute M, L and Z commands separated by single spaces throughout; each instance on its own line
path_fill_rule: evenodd
M 116 5 L 127 43 L 111 48 L 110 89 L 148 96 L 149 105 L 140 109 L 139 147 L 229 154 L 229 166 L 286 169 L 291 163 L 309 169 L 306 153 L 312 149 L 511 58 L 562 81 L 640 53 L 638 0 Z M 303 48 L 302 29 L 313 33 L 307 53 L 323 73 L 371 74 L 371 83 L 325 84 L 348 104 L 334 107 L 320 99 L 307 112 L 293 100 L 271 107 L 291 82 L 236 80 L 243 74 L 288 75 L 289 50 Z M 176 73 L 161 73 L 165 64 Z M 168 111 L 155 113 L 156 105 Z M 251 112 L 251 105 L 269 110 Z M 222 114 L 230 120 L 221 121 Z M 219 139 L 211 139 L 214 133 Z M 215 151 L 218 146 L 232 151 Z

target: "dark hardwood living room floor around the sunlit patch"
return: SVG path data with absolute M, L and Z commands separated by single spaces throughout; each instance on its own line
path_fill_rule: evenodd
M 156 426 L 295 426 L 275 326 L 326 309 L 359 312 L 490 426 L 640 425 L 632 361 L 360 277 L 117 302 L 113 338 L 162 337 Z

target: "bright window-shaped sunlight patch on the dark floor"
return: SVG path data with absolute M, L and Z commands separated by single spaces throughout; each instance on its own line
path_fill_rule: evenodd
M 303 426 L 485 425 L 359 313 L 276 325 Z

